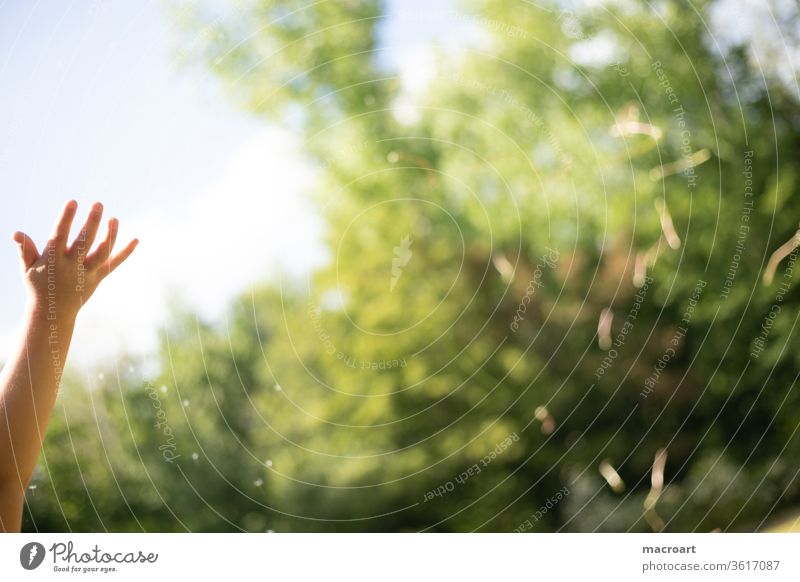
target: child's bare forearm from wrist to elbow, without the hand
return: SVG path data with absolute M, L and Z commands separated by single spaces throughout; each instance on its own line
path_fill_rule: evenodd
M 23 334 L 0 372 L 0 484 L 21 491 L 30 481 L 61 380 L 75 316 L 31 304 Z

